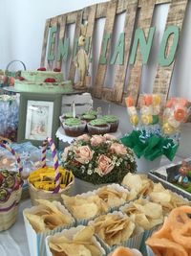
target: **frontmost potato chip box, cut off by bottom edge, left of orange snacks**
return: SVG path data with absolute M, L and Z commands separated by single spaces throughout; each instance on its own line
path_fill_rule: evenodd
M 78 225 L 65 229 L 54 236 L 49 236 L 45 241 L 47 256 L 106 255 L 105 250 L 97 242 L 94 233 L 93 227 Z

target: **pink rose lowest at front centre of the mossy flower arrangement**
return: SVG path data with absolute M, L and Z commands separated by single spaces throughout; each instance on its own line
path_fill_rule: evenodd
M 98 165 L 95 169 L 96 173 L 100 176 L 103 176 L 109 174 L 113 169 L 114 164 L 112 163 L 112 160 L 104 154 L 101 154 L 98 157 Z

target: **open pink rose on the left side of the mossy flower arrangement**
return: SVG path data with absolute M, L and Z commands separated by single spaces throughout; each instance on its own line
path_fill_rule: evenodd
M 81 146 L 74 150 L 75 160 L 81 164 L 88 164 L 93 158 L 94 152 L 88 146 Z

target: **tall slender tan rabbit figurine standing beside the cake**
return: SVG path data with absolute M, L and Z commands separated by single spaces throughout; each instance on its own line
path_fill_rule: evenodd
M 89 60 L 86 51 L 84 50 L 84 45 L 86 42 L 86 32 L 87 32 L 87 24 L 81 25 L 81 35 L 78 39 L 78 46 L 80 49 L 78 50 L 76 56 L 74 57 L 74 65 L 79 73 L 79 81 L 74 84 L 74 88 L 77 90 L 84 90 L 87 88 L 86 85 L 86 75 L 88 74 Z

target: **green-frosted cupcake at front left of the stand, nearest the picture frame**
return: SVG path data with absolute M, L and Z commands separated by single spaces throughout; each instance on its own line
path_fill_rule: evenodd
M 84 133 L 86 128 L 86 122 L 78 118 L 68 118 L 62 123 L 62 126 L 65 130 L 66 135 L 77 137 Z

